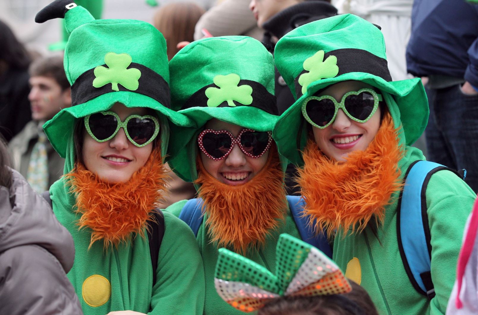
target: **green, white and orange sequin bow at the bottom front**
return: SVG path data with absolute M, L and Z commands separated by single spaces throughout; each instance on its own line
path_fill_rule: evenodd
M 277 242 L 276 269 L 274 275 L 254 261 L 219 249 L 214 279 L 216 291 L 236 309 L 253 312 L 282 295 L 330 295 L 351 290 L 334 261 L 288 234 L 281 234 Z

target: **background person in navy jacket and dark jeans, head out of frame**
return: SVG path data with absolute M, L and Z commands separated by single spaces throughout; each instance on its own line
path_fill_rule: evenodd
M 427 160 L 466 169 L 478 190 L 478 5 L 415 0 L 407 69 L 422 77 L 430 105 Z

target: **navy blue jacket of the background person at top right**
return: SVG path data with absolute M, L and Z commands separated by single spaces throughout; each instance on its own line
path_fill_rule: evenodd
M 452 76 L 478 87 L 478 5 L 413 1 L 406 58 L 414 76 Z

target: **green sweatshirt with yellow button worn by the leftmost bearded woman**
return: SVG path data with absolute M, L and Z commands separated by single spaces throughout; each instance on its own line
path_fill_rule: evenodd
M 68 160 L 71 169 L 72 159 Z M 50 197 L 56 218 L 75 242 L 75 262 L 67 276 L 84 314 L 123 310 L 157 315 L 203 313 L 203 263 L 194 234 L 183 221 L 163 212 L 164 236 L 153 286 L 148 238 L 136 235 L 108 250 L 97 241 L 88 250 L 91 231 L 78 230 L 80 215 L 74 211 L 75 196 L 68 188 L 62 178 L 51 186 Z

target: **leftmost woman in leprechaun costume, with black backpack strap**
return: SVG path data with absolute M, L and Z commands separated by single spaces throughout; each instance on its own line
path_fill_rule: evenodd
M 75 241 L 67 276 L 83 313 L 202 314 L 204 271 L 194 235 L 156 210 L 169 123 L 189 123 L 169 109 L 163 35 L 146 22 L 94 20 L 64 0 L 36 20 L 60 13 L 71 33 L 65 73 L 73 106 L 43 126 L 65 157 L 65 175 L 47 199 Z

